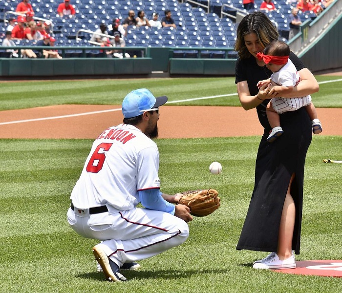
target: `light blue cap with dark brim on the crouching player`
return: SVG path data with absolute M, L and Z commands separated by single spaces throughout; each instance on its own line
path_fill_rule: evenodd
M 168 101 L 167 96 L 155 98 L 147 88 L 131 91 L 122 102 L 122 113 L 125 118 L 142 115 L 145 111 L 158 108 Z

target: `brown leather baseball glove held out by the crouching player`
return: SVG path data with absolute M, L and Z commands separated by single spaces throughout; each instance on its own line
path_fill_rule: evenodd
M 178 204 L 188 206 L 193 216 L 207 216 L 220 206 L 220 198 L 215 189 L 188 190 L 182 194 Z

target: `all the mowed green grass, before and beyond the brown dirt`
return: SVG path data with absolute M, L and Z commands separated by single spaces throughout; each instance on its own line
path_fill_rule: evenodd
M 317 76 L 317 107 L 342 107 L 341 77 Z M 0 109 L 61 104 L 120 105 L 132 89 L 149 88 L 169 101 L 234 94 L 234 78 L 1 83 Z M 235 105 L 236 95 L 171 105 Z M 161 117 L 162 119 L 162 117 Z M 0 126 L 1 127 L 1 126 Z M 224 126 L 223 126 L 224 127 Z M 1 129 L 1 128 L 0 128 Z M 86 131 L 86 130 L 85 130 Z M 96 240 L 78 236 L 66 221 L 70 192 L 92 140 L 0 140 L 0 292 L 341 292 L 334 277 L 253 270 L 265 253 L 236 251 L 254 183 L 259 137 L 157 139 L 164 192 L 215 188 L 221 207 L 195 218 L 180 247 L 141 260 L 127 283 L 109 283 L 96 272 Z M 301 253 L 297 260 L 342 259 L 341 136 L 314 136 L 305 168 Z M 220 175 L 209 165 L 218 161 Z

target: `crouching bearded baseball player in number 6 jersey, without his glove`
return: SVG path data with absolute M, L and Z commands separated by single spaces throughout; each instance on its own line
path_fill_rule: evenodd
M 110 281 L 127 281 L 120 270 L 138 269 L 136 261 L 189 236 L 190 208 L 175 205 L 181 193 L 160 191 L 159 151 L 151 140 L 158 135 L 159 106 L 167 100 L 144 88 L 130 92 L 122 103 L 123 124 L 94 141 L 70 196 L 68 222 L 78 234 L 102 241 L 93 253 Z

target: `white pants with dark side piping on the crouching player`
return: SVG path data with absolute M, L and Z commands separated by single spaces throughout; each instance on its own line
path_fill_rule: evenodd
M 107 256 L 121 267 L 124 263 L 145 259 L 184 243 L 188 224 L 170 213 L 151 209 L 116 212 L 77 213 L 69 208 L 67 219 L 78 234 L 102 240 Z

